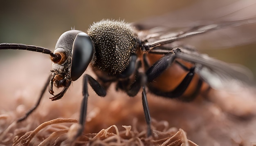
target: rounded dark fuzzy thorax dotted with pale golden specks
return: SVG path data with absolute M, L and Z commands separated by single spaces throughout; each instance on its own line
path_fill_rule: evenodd
M 129 24 L 101 20 L 90 26 L 88 35 L 95 44 L 95 66 L 112 75 L 118 75 L 126 69 L 130 55 L 135 53 L 135 34 Z

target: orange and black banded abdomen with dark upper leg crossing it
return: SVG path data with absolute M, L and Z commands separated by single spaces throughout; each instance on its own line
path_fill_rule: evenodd
M 181 47 L 181 49 L 184 50 L 186 48 Z M 177 57 L 177 54 L 182 55 L 183 51 L 181 49 L 173 49 L 166 55 L 152 53 L 144 55 L 144 62 L 148 66 L 147 69 L 152 65 L 156 66 L 156 69 L 151 68 L 146 72 L 148 76 L 153 77 L 151 79 L 148 78 L 147 86 L 156 95 L 178 98 L 188 102 L 200 93 L 207 92 L 209 85 L 203 82 L 195 73 L 195 63 L 187 62 Z M 154 72 L 157 75 L 154 75 Z

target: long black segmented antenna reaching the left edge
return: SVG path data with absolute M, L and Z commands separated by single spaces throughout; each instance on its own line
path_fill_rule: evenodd
M 28 51 L 34 51 L 34 52 L 40 52 L 40 53 L 45 53 L 51 55 L 51 60 L 53 62 L 56 62 L 56 60 L 61 59 L 61 55 L 59 54 L 54 54 L 51 50 L 46 49 L 44 47 L 40 46 L 33 46 L 33 45 L 26 45 L 26 44 L 14 44 L 14 43 L 2 43 L 0 44 L 0 50 L 4 49 L 18 49 L 18 50 L 28 50 Z

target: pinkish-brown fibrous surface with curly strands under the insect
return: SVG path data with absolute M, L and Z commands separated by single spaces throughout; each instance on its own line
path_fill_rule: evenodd
M 1 61 L 0 70 L 0 145 L 70 145 L 69 137 L 78 126 L 82 80 L 73 82 L 61 100 L 51 101 L 46 92 L 36 111 L 17 123 L 36 103 L 51 62 L 46 55 L 26 51 Z M 94 76 L 90 69 L 85 73 Z M 146 137 L 141 93 L 128 97 L 113 85 L 106 97 L 98 97 L 89 88 L 85 129 L 73 144 L 243 146 L 256 142 L 252 87 L 240 87 L 235 93 L 211 90 L 207 99 L 188 103 L 147 95 L 152 137 Z

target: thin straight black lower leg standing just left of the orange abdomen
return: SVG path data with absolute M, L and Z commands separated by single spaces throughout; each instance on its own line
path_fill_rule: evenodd
M 150 114 L 149 114 L 148 100 L 147 100 L 145 87 L 143 86 L 142 89 L 143 89 L 143 91 L 142 91 L 142 104 L 143 104 L 144 115 L 145 115 L 145 119 L 146 119 L 146 123 L 147 123 L 147 127 L 148 127 L 147 137 L 149 137 L 150 135 L 152 135 L 151 118 L 150 118 Z

